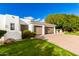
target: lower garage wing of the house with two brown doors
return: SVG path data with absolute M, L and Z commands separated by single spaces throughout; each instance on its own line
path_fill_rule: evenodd
M 24 21 L 23 21 L 24 20 Z M 24 18 L 20 20 L 21 30 L 30 30 L 36 32 L 37 35 L 55 34 L 54 24 L 34 21 L 32 19 Z

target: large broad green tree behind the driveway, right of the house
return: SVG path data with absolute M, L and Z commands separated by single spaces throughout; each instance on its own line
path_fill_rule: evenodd
M 56 28 L 64 31 L 79 30 L 79 17 L 73 14 L 49 14 L 45 22 L 56 24 Z

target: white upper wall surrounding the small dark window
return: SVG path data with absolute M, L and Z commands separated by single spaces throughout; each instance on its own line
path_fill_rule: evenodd
M 10 30 L 10 23 L 15 23 L 15 31 L 20 31 L 19 17 L 13 15 L 0 15 L 0 30 Z

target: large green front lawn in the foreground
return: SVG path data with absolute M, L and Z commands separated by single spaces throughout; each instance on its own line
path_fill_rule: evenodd
M 45 40 L 29 39 L 0 46 L 2 56 L 76 56 Z

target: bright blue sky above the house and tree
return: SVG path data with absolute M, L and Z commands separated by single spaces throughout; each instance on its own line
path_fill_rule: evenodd
M 78 3 L 0 3 L 0 14 L 44 20 L 49 14 L 79 15 Z

